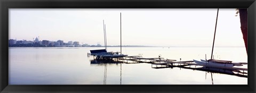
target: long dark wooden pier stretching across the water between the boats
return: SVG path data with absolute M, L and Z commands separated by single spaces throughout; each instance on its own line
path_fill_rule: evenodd
M 127 64 L 149 63 L 151 64 L 151 67 L 154 69 L 180 67 L 183 69 L 223 73 L 223 74 L 236 75 L 238 77 L 245 77 L 245 78 L 247 78 L 247 71 L 248 71 L 248 69 L 240 68 L 240 67 L 202 65 L 202 64 L 196 64 L 194 63 L 194 61 L 176 61 L 176 60 L 165 59 L 165 58 L 143 58 L 142 56 L 126 56 L 122 58 L 117 58 L 117 60 L 118 61 L 123 60 L 123 63 L 127 63 Z

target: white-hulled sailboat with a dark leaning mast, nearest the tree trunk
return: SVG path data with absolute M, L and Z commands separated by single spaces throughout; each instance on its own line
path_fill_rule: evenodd
M 219 9 L 218 9 L 218 12 L 217 12 L 217 18 L 216 18 L 216 23 L 215 23 L 215 31 L 214 31 L 214 38 L 213 38 L 213 45 L 212 45 L 212 53 L 213 53 L 215 33 L 216 33 L 216 28 L 217 28 L 218 14 L 219 14 Z M 232 63 L 232 61 L 214 60 L 214 59 L 212 59 L 212 55 L 211 55 L 211 59 L 210 60 L 206 60 L 206 58 L 205 58 L 205 60 L 201 59 L 201 61 L 197 61 L 197 60 L 193 60 L 193 61 L 195 63 L 197 63 L 197 64 L 210 65 L 210 66 L 225 66 L 225 67 L 242 66 L 242 63 Z

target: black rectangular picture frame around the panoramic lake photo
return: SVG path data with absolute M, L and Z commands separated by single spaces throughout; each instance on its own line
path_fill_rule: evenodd
M 255 0 L 0 0 L 1 92 L 255 92 Z M 10 8 L 248 8 L 247 85 L 9 85 L 8 37 Z M 234 81 L 235 82 L 235 81 Z

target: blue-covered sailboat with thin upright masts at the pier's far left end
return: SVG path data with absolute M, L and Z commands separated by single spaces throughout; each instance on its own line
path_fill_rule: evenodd
M 121 23 L 121 13 L 120 13 L 120 23 Z M 105 49 L 90 50 L 91 52 L 90 55 L 96 56 L 97 59 L 102 59 L 102 58 L 112 59 L 112 58 L 128 56 L 128 55 L 122 54 L 122 42 L 121 42 L 121 52 L 107 52 L 106 24 L 104 24 L 104 20 L 103 20 L 103 31 L 104 31 Z

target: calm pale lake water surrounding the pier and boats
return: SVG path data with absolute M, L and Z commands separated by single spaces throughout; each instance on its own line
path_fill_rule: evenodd
M 87 57 L 91 49 L 103 47 L 10 47 L 9 84 L 247 84 L 246 77 L 180 67 L 94 64 L 93 56 Z M 119 47 L 107 49 L 120 51 Z M 211 50 L 211 47 L 122 47 L 122 54 L 193 61 L 205 59 L 205 54 L 210 59 Z M 214 47 L 213 55 L 217 60 L 247 63 L 244 47 Z

